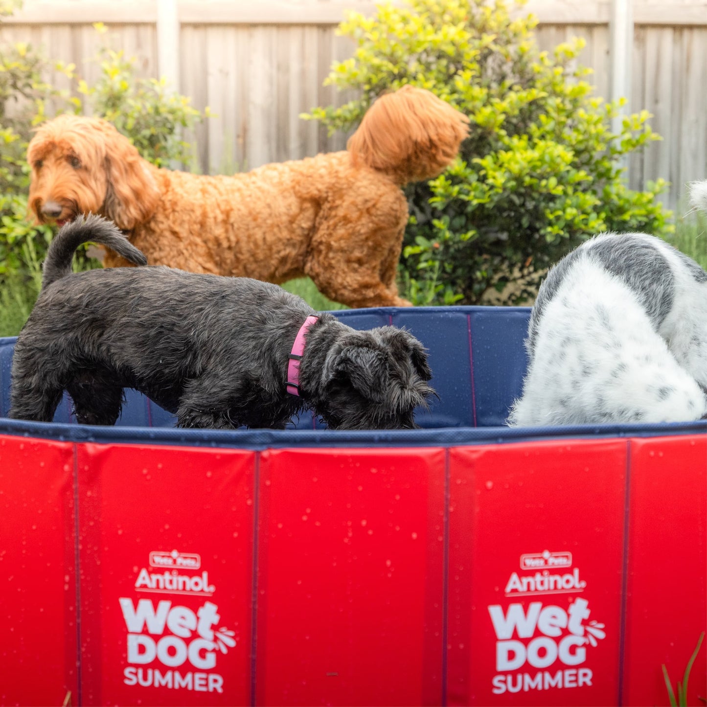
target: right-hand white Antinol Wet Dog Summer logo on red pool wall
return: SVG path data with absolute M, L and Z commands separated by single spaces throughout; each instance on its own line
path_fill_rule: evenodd
M 587 582 L 572 567 L 572 554 L 523 554 L 520 569 L 508 578 L 506 602 L 488 607 L 496 633 L 493 694 L 591 685 L 588 651 L 607 634 L 590 620 L 588 598 L 578 596 Z

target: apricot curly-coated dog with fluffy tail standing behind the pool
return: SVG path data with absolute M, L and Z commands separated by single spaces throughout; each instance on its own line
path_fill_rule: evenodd
M 346 151 L 209 177 L 156 168 L 103 119 L 60 115 L 28 148 L 30 209 L 59 225 L 110 218 L 150 264 L 275 284 L 308 275 L 350 307 L 404 306 L 401 187 L 440 174 L 467 123 L 433 93 L 404 86 L 373 103 Z M 129 262 L 109 250 L 103 264 Z

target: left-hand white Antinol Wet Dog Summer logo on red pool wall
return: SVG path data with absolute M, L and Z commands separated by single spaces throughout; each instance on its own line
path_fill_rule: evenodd
M 148 563 L 137 573 L 136 597 L 118 600 L 127 629 L 124 684 L 222 693 L 216 663 L 235 648 L 235 632 L 221 624 L 200 556 L 154 551 Z

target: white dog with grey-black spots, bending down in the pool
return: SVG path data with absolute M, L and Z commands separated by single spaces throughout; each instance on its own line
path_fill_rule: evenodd
M 691 188 L 707 211 L 707 180 Z M 539 289 L 512 426 L 707 417 L 707 272 L 645 233 L 605 233 Z

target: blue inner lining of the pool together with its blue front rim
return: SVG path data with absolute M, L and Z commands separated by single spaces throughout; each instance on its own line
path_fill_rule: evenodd
M 16 339 L 0 338 L 0 433 L 60 440 L 217 445 L 245 448 L 308 445 L 452 445 L 597 436 L 665 436 L 707 432 L 707 421 L 660 424 L 508 428 L 508 410 L 520 395 L 527 368 L 523 341 L 530 308 L 423 307 L 342 310 L 355 329 L 405 327 L 429 351 L 438 398 L 416 411 L 420 430 L 329 431 L 306 413 L 286 431 L 182 430 L 175 417 L 144 395 L 126 391 L 115 427 L 76 424 L 66 395 L 53 423 L 10 420 L 10 373 Z

